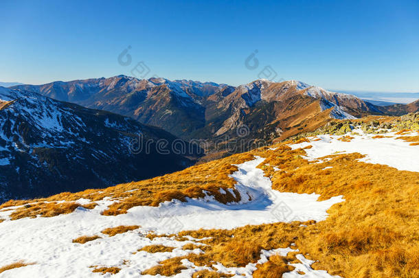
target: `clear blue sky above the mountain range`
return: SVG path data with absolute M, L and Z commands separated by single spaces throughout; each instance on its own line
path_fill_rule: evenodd
M 276 79 L 419 91 L 419 1 L 1 1 L 0 81 Z M 128 47 L 132 62 L 117 57 Z M 259 66 L 245 67 L 255 50 Z

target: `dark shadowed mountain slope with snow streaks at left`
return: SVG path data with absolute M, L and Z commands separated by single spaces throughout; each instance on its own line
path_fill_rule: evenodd
M 196 150 L 162 151 L 160 139 L 179 140 L 129 117 L 0 87 L 0 202 L 138 181 L 192 164 L 185 155 L 196 157 Z

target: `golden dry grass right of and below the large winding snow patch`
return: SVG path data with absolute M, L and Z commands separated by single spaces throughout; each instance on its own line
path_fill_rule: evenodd
M 313 268 L 342 277 L 419 276 L 419 173 L 399 171 L 386 165 L 359 162 L 361 154 L 335 154 L 330 161 L 314 163 L 302 159 L 302 149 L 278 144 L 251 153 L 267 159 L 258 167 L 271 176 L 273 188 L 281 192 L 321 194 L 319 200 L 343 195 L 345 202 L 333 205 L 330 216 L 318 223 L 275 223 L 247 226 L 231 231 L 183 231 L 177 235 L 210 237 L 200 246 L 204 253 L 187 258 L 197 266 L 214 262 L 240 267 L 260 258 L 260 250 L 284 248 L 295 242 Z M 281 171 L 275 172 L 273 166 Z M 322 170 L 324 167 L 332 167 Z M 234 238 L 231 236 L 234 235 Z M 285 262 L 258 266 L 259 277 L 280 277 Z M 179 262 L 180 260 L 172 260 Z M 171 266 L 173 267 L 173 266 Z M 160 266 L 162 270 L 164 266 Z M 269 274 L 267 274 L 269 273 Z

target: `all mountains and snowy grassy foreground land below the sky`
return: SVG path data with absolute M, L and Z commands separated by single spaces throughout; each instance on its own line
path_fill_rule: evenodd
M 0 87 L 0 276 L 418 277 L 414 111 L 295 80 Z

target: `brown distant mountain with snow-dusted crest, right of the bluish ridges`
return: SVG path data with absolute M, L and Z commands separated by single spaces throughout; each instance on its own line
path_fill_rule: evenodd
M 228 90 L 227 92 L 225 92 Z M 192 137 L 286 139 L 326 124 L 332 118 L 354 119 L 381 114 L 376 106 L 342 93 L 333 93 L 295 80 L 256 80 L 237 88 L 226 87 L 207 98 L 207 124 Z M 241 138 L 243 139 L 243 138 Z

